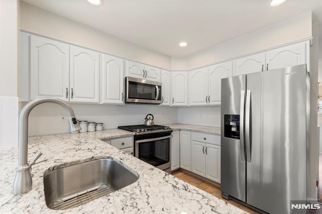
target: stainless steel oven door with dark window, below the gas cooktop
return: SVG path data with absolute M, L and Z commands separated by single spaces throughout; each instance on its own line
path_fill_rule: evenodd
M 172 135 L 135 141 L 135 157 L 162 170 L 171 167 Z

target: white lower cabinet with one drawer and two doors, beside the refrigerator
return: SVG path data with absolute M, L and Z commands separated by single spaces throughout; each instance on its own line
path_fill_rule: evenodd
M 220 183 L 220 137 L 191 132 L 191 172 Z

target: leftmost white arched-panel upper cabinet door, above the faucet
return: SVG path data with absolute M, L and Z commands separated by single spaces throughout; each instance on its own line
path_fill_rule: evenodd
M 68 101 L 69 46 L 31 35 L 30 99 L 51 96 Z

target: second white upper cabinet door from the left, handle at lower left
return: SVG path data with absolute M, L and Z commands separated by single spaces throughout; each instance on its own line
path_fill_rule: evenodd
M 100 54 L 70 46 L 70 102 L 99 102 Z

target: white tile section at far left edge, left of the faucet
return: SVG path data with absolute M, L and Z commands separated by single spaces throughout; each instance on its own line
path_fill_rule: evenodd
M 18 147 L 18 97 L 0 96 L 0 150 Z

